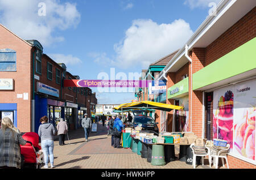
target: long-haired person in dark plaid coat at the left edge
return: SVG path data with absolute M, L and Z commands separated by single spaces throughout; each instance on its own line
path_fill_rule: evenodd
M 0 169 L 20 168 L 20 145 L 25 145 L 18 128 L 15 128 L 10 118 L 5 117 L 0 129 Z

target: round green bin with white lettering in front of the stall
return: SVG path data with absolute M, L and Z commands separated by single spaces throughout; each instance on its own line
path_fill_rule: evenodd
M 153 166 L 163 166 L 166 165 L 164 160 L 164 145 L 153 145 L 152 146 L 152 158 L 151 164 Z

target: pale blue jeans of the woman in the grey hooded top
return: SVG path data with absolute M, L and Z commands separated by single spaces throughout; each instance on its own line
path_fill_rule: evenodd
M 48 164 L 48 162 L 50 161 L 50 163 L 53 165 L 53 148 L 54 148 L 54 143 L 53 140 L 50 139 L 46 139 L 46 140 L 42 140 L 41 142 L 41 146 L 43 149 L 43 153 L 44 153 L 44 164 Z M 48 161 L 48 156 L 49 156 L 49 161 Z

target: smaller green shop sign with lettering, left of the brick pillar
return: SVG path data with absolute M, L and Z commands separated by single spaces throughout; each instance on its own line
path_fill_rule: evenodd
M 172 87 L 168 88 L 167 96 L 169 98 L 176 98 L 187 96 L 188 94 L 188 78 L 181 80 L 179 83 L 176 83 Z

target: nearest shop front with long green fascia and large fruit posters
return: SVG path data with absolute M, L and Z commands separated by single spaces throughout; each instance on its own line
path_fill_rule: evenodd
M 226 140 L 230 156 L 254 165 L 255 45 L 254 38 L 193 74 L 193 91 L 203 91 L 204 137 Z

